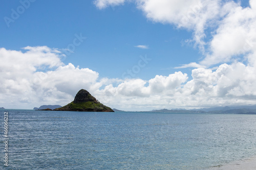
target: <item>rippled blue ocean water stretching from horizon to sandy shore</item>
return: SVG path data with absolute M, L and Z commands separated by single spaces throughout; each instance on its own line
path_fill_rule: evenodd
M 256 115 L 7 111 L 5 169 L 207 169 L 256 155 Z

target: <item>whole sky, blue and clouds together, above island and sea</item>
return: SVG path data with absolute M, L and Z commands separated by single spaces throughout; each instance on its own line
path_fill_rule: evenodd
M 256 104 L 256 0 L 4 0 L 0 107 Z

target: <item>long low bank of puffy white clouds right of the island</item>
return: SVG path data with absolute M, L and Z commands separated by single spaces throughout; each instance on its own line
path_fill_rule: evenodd
M 193 69 L 192 80 L 175 72 L 145 81 L 125 80 L 117 87 L 97 90 L 105 103 L 129 109 L 195 108 L 226 105 L 253 105 L 256 101 L 255 68 L 241 62 L 222 64 L 215 71 Z

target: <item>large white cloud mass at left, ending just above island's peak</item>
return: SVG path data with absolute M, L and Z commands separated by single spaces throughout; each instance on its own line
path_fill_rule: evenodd
M 26 51 L 0 48 L 1 103 L 8 100 L 7 108 L 35 107 L 35 103 L 63 105 L 72 100 L 77 89 L 101 86 L 96 82 L 97 72 L 63 64 L 58 50 L 47 46 L 23 49 Z

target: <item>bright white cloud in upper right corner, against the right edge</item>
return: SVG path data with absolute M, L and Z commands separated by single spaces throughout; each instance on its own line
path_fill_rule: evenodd
M 250 1 L 253 5 L 255 1 Z M 212 65 L 232 61 L 235 57 L 256 52 L 256 10 L 237 6 L 220 21 L 209 43 L 209 53 L 200 63 Z

